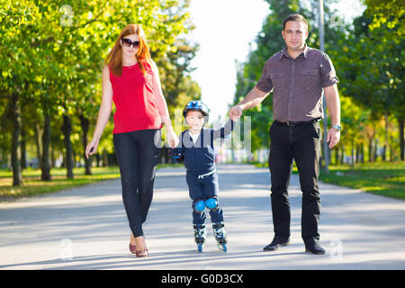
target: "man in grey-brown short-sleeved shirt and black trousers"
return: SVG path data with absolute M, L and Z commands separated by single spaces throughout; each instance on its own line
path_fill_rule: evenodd
M 240 117 L 243 110 L 261 103 L 274 88 L 270 127 L 269 168 L 275 238 L 264 247 L 275 251 L 290 242 L 290 202 L 288 184 L 293 159 L 300 175 L 302 189 L 302 239 L 305 250 L 325 254 L 320 247 L 320 119 L 323 115 L 324 91 L 332 126 L 328 130 L 329 148 L 340 139 L 340 101 L 338 77 L 328 55 L 311 49 L 305 43 L 308 23 L 300 14 L 289 15 L 283 23 L 285 48 L 266 62 L 257 85 L 236 106 L 230 117 Z

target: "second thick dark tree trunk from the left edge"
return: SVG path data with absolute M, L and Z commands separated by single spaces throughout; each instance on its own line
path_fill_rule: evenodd
M 42 174 L 40 180 L 50 181 L 50 163 L 49 163 L 49 143 L 50 143 L 50 115 L 48 103 L 43 103 L 44 125 L 42 133 L 42 157 L 40 159 L 40 169 Z

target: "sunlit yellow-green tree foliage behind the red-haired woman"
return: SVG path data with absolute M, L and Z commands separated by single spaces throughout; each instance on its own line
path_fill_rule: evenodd
M 178 35 L 184 35 L 191 25 L 187 22 L 188 4 L 187 0 L 79 0 L 65 1 L 63 5 L 58 1 L 13 0 L 10 4 L 0 0 L 0 67 L 3 77 L 0 91 L 6 97 L 6 103 L 13 103 L 7 107 L 14 119 L 11 121 L 14 129 L 3 121 L 1 129 L 14 132 L 13 163 L 21 162 L 20 119 L 21 111 L 27 111 L 21 110 L 24 104 L 35 107 L 30 115 L 35 119 L 33 122 L 42 121 L 42 124 L 36 122 L 32 125 L 35 127 L 33 137 L 40 158 L 41 178 L 50 180 L 49 147 L 52 139 L 56 139 L 51 135 L 52 129 L 55 135 L 64 134 L 67 176 L 74 176 L 72 157 L 75 151 L 71 136 L 76 132 L 72 128 L 73 117 L 77 116 L 80 122 L 84 151 L 86 135 L 91 129 L 90 123 L 95 122 L 101 100 L 103 59 L 128 23 L 144 26 L 157 62 L 167 54 L 173 55 L 167 58 L 167 66 L 174 65 L 173 71 L 182 67 L 178 64 L 180 62 L 175 64 L 179 59 L 175 55 L 186 58 L 183 71 L 176 74 L 175 88 L 171 92 L 173 103 L 177 97 L 175 89 L 180 87 L 186 93 L 191 92 L 190 97 L 198 94 L 198 85 L 184 72 L 189 65 L 187 58 L 193 57 L 194 49 L 185 42 L 176 41 Z M 23 115 L 23 118 L 30 116 Z M 51 123 L 57 123 L 59 119 L 63 119 L 63 124 L 59 126 L 61 129 L 55 130 Z M 111 130 L 111 124 L 106 130 Z M 5 138 L 2 141 L 5 143 Z M 105 145 L 112 148 L 112 141 Z M 14 174 L 18 179 L 21 171 L 15 163 L 13 166 L 17 170 Z M 86 173 L 90 174 L 90 162 L 85 161 L 85 166 Z

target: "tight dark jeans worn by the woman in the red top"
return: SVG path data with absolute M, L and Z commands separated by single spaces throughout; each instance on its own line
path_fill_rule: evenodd
M 136 130 L 113 135 L 120 166 L 122 201 L 134 237 L 143 235 L 153 197 L 153 183 L 160 150 L 160 130 Z

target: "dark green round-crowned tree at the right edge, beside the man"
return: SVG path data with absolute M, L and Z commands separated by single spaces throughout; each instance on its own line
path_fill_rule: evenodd
M 405 92 L 404 67 L 400 61 L 405 41 L 400 37 L 398 25 L 389 23 L 373 27 L 369 11 L 357 17 L 354 28 L 342 37 L 335 57 L 344 81 L 344 93 L 365 109 L 373 111 L 374 120 L 394 116 L 399 123 L 401 159 L 403 160 L 403 125 Z M 387 135 L 387 134 L 386 134 Z M 388 135 L 385 137 L 388 145 Z

